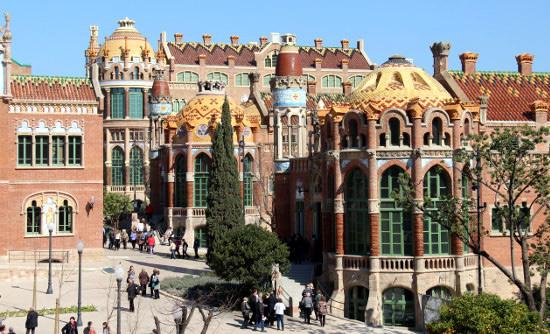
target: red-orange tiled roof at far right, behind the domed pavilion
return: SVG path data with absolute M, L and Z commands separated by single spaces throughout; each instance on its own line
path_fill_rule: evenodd
M 532 120 L 530 105 L 536 100 L 550 102 L 550 73 L 521 75 L 517 72 L 449 71 L 472 102 L 489 97 L 487 119 L 492 121 Z

